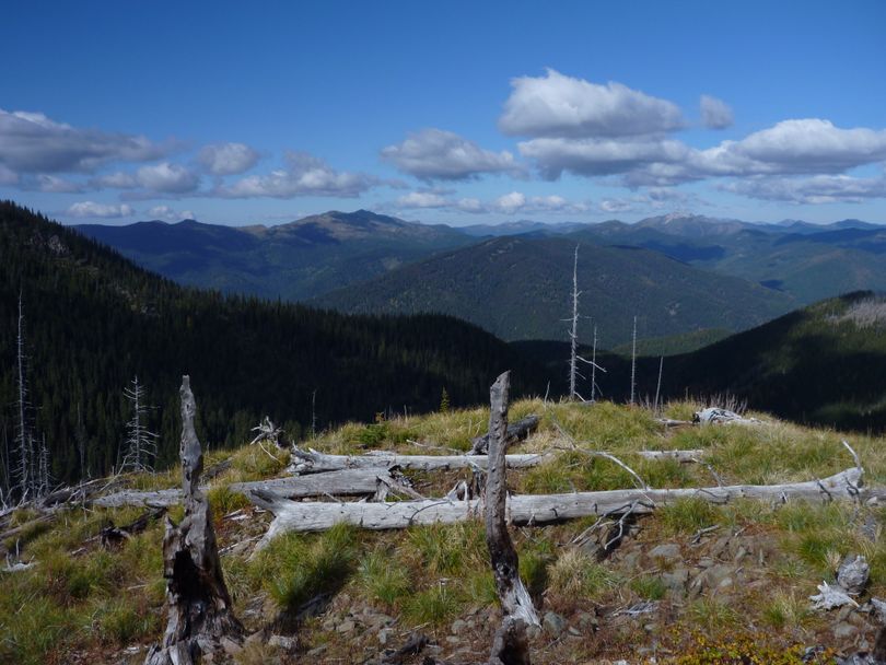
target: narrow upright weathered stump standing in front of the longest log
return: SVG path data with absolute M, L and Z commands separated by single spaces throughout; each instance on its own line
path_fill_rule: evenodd
M 492 643 L 491 665 L 528 665 L 526 625 L 538 625 L 529 592 L 520 579 L 520 561 L 505 522 L 508 482 L 504 453 L 508 447 L 510 377 L 510 372 L 504 372 L 489 390 L 490 463 L 486 481 L 486 544 L 504 615 Z

